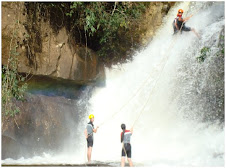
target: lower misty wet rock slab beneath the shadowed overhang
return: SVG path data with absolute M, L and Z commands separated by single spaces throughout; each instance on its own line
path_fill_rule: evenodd
M 74 94 L 81 92 L 74 90 Z M 21 112 L 5 123 L 7 129 L 2 132 L 2 159 L 60 152 L 68 137 L 72 137 L 74 142 L 84 138 L 82 134 L 75 133 L 81 130 L 79 125 L 86 104 L 87 99 L 79 104 L 76 99 L 42 94 L 29 94 L 25 102 L 16 102 Z

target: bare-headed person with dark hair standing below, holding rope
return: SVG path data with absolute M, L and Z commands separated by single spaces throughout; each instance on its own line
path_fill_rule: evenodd
M 127 155 L 127 160 L 129 162 L 129 166 L 133 166 L 133 162 L 131 160 L 131 144 L 130 144 L 130 138 L 133 133 L 133 128 L 130 130 L 126 130 L 126 125 L 121 125 L 122 131 L 121 132 L 121 143 L 122 143 L 122 158 L 121 158 L 121 167 L 125 166 L 125 156 Z

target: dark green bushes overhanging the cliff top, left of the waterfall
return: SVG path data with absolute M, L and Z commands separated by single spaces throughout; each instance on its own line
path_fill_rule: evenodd
M 139 47 L 137 23 L 149 5 L 150 2 L 25 3 L 32 20 L 38 18 L 38 9 L 40 17 L 49 20 L 56 33 L 65 27 L 72 41 L 96 51 L 107 65 L 122 62 L 132 48 Z

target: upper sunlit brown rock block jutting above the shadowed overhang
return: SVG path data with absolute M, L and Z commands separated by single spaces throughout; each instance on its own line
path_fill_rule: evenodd
M 7 64 L 10 40 L 13 31 L 16 31 L 19 72 L 70 79 L 78 83 L 104 77 L 104 69 L 98 63 L 96 54 L 85 46 L 75 44 L 65 28 L 56 34 L 48 22 L 40 18 L 31 19 L 25 12 L 23 2 L 3 2 L 2 13 L 3 64 Z

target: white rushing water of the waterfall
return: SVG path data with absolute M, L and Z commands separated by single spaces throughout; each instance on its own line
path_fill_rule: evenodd
M 89 114 L 95 115 L 94 125 L 103 123 L 94 136 L 92 160 L 118 164 L 120 125 L 125 123 L 130 129 L 142 112 L 131 140 L 135 166 L 224 166 L 224 128 L 202 123 L 198 118 L 185 119 L 184 113 L 192 114 L 195 109 L 184 111 L 178 107 L 182 93 L 175 92 L 175 80 L 182 76 L 178 73 L 183 73 L 178 68 L 186 64 L 183 58 L 195 60 L 196 56 L 191 53 L 199 52 L 211 38 L 217 39 L 214 35 L 225 25 L 224 2 L 207 4 L 178 4 L 164 18 L 150 44 L 138 52 L 131 63 L 106 69 L 106 87 L 96 88 L 90 99 Z M 172 21 L 179 8 L 184 9 L 184 15 L 194 14 L 186 25 L 194 27 L 201 39 L 193 32 L 172 36 Z M 85 127 L 87 121 L 88 117 L 84 118 L 82 126 Z M 80 131 L 83 136 L 84 129 Z M 86 141 L 82 136 L 79 149 L 63 150 L 57 156 L 44 154 L 31 159 L 6 159 L 3 163 L 84 163 Z

